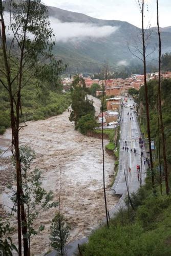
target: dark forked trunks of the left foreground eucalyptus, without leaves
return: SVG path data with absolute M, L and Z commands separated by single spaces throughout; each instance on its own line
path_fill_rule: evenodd
M 22 236 L 21 236 L 21 226 L 22 226 L 22 233 L 23 233 L 23 245 L 24 245 L 24 255 L 29 255 L 29 248 L 28 248 L 28 240 L 27 240 L 27 220 L 25 217 L 25 208 L 24 202 L 21 200 L 23 196 L 23 189 L 22 189 L 22 172 L 20 166 L 20 157 L 19 157 L 19 108 L 20 108 L 20 90 L 17 94 L 17 103 L 12 95 L 12 87 L 11 87 L 11 78 L 10 78 L 10 68 L 8 65 L 7 59 L 7 50 L 6 50 L 6 35 L 5 35 L 5 24 L 3 18 L 3 10 L 2 10 L 2 0 L 0 0 L 0 11 L 1 11 L 1 22 L 2 22 L 2 49 L 4 55 L 4 63 L 6 69 L 6 77 L 8 87 L 5 86 L 6 90 L 9 94 L 10 99 L 10 118 L 11 118 L 11 129 L 12 129 L 12 145 L 15 148 L 15 162 L 16 162 L 16 180 L 17 180 L 17 225 L 18 225 L 18 255 L 22 255 Z M 20 70 L 22 73 L 22 70 Z M 22 76 L 21 76 L 22 78 Z M 21 85 L 22 79 L 20 80 Z M 16 106 L 16 117 L 14 114 L 14 104 Z M 21 225 L 22 221 L 22 225 Z

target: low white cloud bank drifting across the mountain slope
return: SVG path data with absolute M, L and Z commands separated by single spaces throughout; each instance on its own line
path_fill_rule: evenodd
M 90 23 L 60 22 L 59 19 L 50 17 L 51 27 L 54 30 L 56 41 L 68 41 L 74 38 L 94 37 L 100 38 L 114 33 L 118 27 L 96 26 Z

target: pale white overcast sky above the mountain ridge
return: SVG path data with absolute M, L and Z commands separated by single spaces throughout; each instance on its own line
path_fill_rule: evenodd
M 80 12 L 100 19 L 117 19 L 141 27 L 141 16 L 137 0 L 42 0 L 49 6 Z M 146 25 L 156 26 L 156 0 L 146 0 L 148 11 Z M 147 10 L 147 8 L 145 8 Z M 171 26 L 171 0 L 159 0 L 160 27 Z

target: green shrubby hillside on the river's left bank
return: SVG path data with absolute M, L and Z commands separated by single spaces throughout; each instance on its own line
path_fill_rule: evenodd
M 2 54 L 0 62 L 3 63 Z M 13 68 L 15 72 L 15 67 Z M 12 74 L 13 75 L 13 74 Z M 5 81 L 1 73 L 1 79 Z M 62 93 L 60 81 L 59 88 L 55 88 L 48 81 L 41 81 L 30 72 L 25 74 L 25 81 L 28 81 L 22 89 L 22 111 L 20 121 L 44 119 L 50 116 L 59 115 L 71 104 L 70 93 Z M 15 87 L 13 88 L 15 91 Z M 0 83 L 0 134 L 3 134 L 7 127 L 10 127 L 10 103 L 8 92 Z

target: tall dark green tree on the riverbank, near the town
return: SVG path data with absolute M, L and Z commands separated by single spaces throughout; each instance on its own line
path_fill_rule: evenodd
M 70 121 L 74 121 L 75 129 L 78 129 L 78 120 L 87 114 L 94 115 L 93 102 L 87 98 L 86 84 L 82 77 L 76 75 L 72 83 L 71 90 L 72 111 Z

